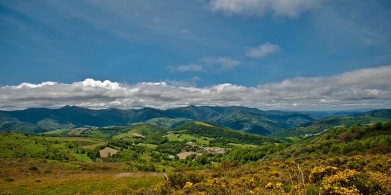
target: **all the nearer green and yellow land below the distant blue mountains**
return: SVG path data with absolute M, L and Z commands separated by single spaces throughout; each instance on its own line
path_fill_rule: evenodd
M 89 137 L 69 137 L 71 132 L 3 132 L 0 193 L 391 193 L 390 121 L 337 127 L 295 143 L 205 121 L 173 130 L 138 124 L 73 132 Z M 102 157 L 107 147 L 117 152 Z

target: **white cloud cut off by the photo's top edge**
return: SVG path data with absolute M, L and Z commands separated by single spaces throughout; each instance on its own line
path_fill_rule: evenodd
M 305 10 L 315 8 L 323 0 L 211 0 L 210 8 L 226 15 L 296 18 Z

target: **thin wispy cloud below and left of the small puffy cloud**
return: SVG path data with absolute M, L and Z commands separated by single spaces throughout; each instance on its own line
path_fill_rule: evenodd
M 229 57 L 210 57 L 200 59 L 197 63 L 190 63 L 187 65 L 170 65 L 167 66 L 167 68 L 170 72 L 220 72 L 233 70 L 239 64 L 240 62 L 238 60 Z

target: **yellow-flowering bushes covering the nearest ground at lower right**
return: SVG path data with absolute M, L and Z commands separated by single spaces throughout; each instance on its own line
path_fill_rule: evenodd
M 360 156 L 361 158 L 363 156 Z M 158 184 L 160 195 L 360 195 L 391 194 L 390 156 L 366 156 L 368 162 L 360 171 L 349 169 L 357 157 L 337 157 L 335 160 L 306 159 L 294 161 L 257 162 L 248 165 L 201 171 L 174 173 L 170 185 Z M 324 164 L 322 166 L 314 166 Z M 391 161 L 390 161 L 391 162 Z M 380 165 L 383 163 L 382 165 Z M 381 166 L 381 168 L 378 168 Z M 312 168 L 311 168 L 312 167 Z M 374 171 L 381 170 L 381 171 Z M 304 179 L 303 179 L 304 178 Z M 181 188 L 174 184 L 181 183 Z

